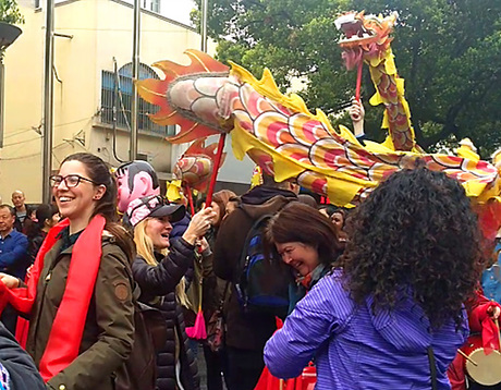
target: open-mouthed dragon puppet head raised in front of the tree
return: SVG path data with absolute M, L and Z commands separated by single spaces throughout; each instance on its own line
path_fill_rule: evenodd
M 374 61 L 386 57 L 393 40 L 391 33 L 396 17 L 396 12 L 382 17 L 365 15 L 364 11 L 351 11 L 334 21 L 335 27 L 342 33 L 339 45 L 344 50 L 343 59 L 347 69 L 353 69 L 361 58 Z

